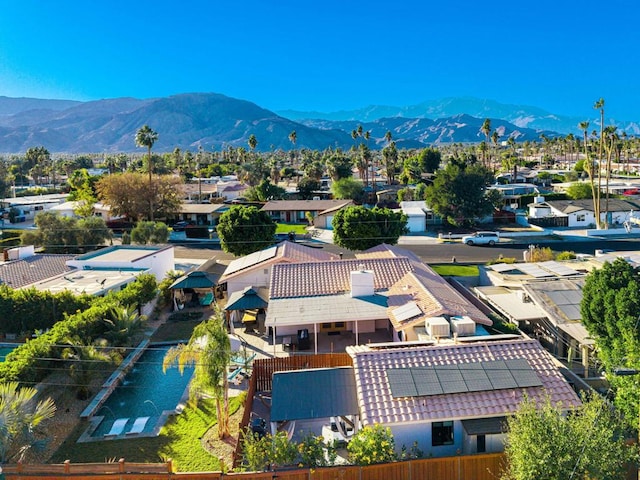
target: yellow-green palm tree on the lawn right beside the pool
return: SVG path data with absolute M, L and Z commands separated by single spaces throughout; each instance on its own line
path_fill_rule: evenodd
M 172 347 L 162 361 L 164 371 L 177 365 L 180 373 L 186 366 L 195 366 L 190 393 L 195 396 L 210 390 L 216 399 L 218 437 L 227 438 L 229 430 L 229 383 L 227 370 L 231 359 L 231 344 L 220 310 L 193 330 L 187 344 Z

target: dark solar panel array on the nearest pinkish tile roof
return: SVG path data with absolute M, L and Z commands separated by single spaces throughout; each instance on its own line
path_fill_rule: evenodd
M 542 386 L 525 359 L 389 368 L 387 380 L 394 398 Z

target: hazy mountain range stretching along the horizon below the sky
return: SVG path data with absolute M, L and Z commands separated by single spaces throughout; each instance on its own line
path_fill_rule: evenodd
M 478 99 L 445 99 L 410 107 L 372 106 L 320 114 L 275 113 L 217 93 L 88 102 L 0 97 L 0 152 L 21 153 L 40 145 L 50 152 L 142 152 L 136 148 L 134 137 L 144 124 L 158 132 L 153 146 L 156 152 L 176 147 L 195 151 L 199 146 L 208 150 L 226 146 L 248 149 L 250 135 L 258 140 L 257 150 L 290 150 L 294 148 L 289 141 L 293 130 L 297 137 L 295 148 L 348 149 L 355 143 L 351 132 L 358 125 L 370 132 L 371 148 L 386 145 L 387 131 L 398 147 L 420 148 L 481 141 L 485 118 L 491 119 L 492 129 L 501 140 L 511 136 L 516 141 L 537 141 L 542 133 L 556 136 L 564 132 L 569 122 L 533 107 Z

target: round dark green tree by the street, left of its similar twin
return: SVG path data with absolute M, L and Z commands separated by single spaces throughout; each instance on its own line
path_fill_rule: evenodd
M 216 231 L 225 252 L 248 255 L 273 243 L 276 224 L 256 207 L 234 205 L 220 216 Z

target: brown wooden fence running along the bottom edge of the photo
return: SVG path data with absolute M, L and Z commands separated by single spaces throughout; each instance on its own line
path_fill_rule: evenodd
M 359 467 L 276 470 L 248 473 L 172 473 L 166 464 L 119 463 L 58 465 L 6 465 L 7 479 L 20 480 L 496 480 L 504 454 L 492 453 L 408 460 Z

